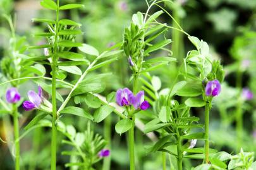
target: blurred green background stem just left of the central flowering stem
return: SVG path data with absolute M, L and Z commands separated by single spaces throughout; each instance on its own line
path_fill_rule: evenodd
M 104 139 L 107 140 L 107 147 L 111 150 L 111 115 L 104 120 Z M 111 167 L 111 156 L 105 157 L 103 161 L 103 170 L 109 170 Z

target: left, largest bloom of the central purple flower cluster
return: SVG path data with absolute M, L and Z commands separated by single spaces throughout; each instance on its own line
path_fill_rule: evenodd
M 116 102 L 119 106 L 131 105 L 133 93 L 128 88 L 118 89 L 116 92 Z

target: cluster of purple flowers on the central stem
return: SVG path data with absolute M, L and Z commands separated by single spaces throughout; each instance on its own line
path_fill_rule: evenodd
M 144 91 L 139 91 L 136 95 L 128 88 L 118 89 L 116 92 L 116 103 L 119 106 L 133 106 L 136 110 L 147 110 L 150 105 L 144 100 Z

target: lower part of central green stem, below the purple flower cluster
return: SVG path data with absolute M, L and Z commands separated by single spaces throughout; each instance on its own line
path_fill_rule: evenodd
M 128 132 L 129 144 L 129 157 L 130 157 L 130 170 L 135 170 L 135 157 L 134 157 L 134 121 L 133 125 Z

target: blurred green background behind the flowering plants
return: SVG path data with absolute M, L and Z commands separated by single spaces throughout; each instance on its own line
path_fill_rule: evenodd
M 96 47 L 103 52 L 112 45 L 122 42 L 123 30 L 130 24 L 131 16 L 137 11 L 145 13 L 147 4 L 143 0 L 61 0 L 61 3 L 81 3 L 85 5 L 83 9 L 74 9 L 61 13 L 61 18 L 71 18 L 82 23 L 83 36 L 77 37 L 78 42 L 85 42 Z M 255 0 L 178 0 L 176 5 L 166 5 L 164 8 L 171 13 L 180 23 L 183 30 L 190 35 L 203 39 L 210 45 L 211 54 L 216 59 L 221 59 L 226 71 L 225 83 L 221 95 L 214 101 L 214 110 L 210 113 L 210 139 L 218 150 L 236 152 L 236 134 L 234 123 L 234 112 L 236 106 L 236 95 L 239 91 L 236 84 L 238 79 L 238 67 L 242 67 L 245 60 L 250 64 L 241 72 L 241 86 L 250 88 L 256 94 L 256 1 Z M 156 6 L 152 8 L 150 14 L 158 11 Z M 54 13 L 40 7 L 40 1 L 36 0 L 0 0 L 0 16 L 8 14 L 15 18 L 16 33 L 19 37 L 25 37 L 27 45 L 35 45 L 42 42 L 42 39 L 33 37 L 32 33 L 46 30 L 45 25 L 32 23 L 32 18 L 54 19 Z M 162 14 L 159 18 L 161 23 L 173 25 L 173 21 L 167 14 Z M 0 17 L 0 57 L 9 55 L 9 38 L 11 32 L 8 23 Z M 173 40 L 173 57 L 179 61 L 185 57 L 186 52 L 193 47 L 188 39 L 177 31 L 168 31 L 166 37 Z M 42 55 L 43 51 L 35 50 L 31 53 Z M 161 55 L 161 54 L 155 54 Z M 104 79 L 108 94 L 118 88 L 129 85 L 130 71 L 125 57 L 120 57 L 118 62 L 104 67 L 101 72 L 113 72 L 112 76 Z M 177 70 L 175 65 L 168 65 L 153 72 L 159 76 L 163 87 L 168 87 L 173 82 L 173 77 Z M 93 75 L 92 75 L 93 76 Z M 72 80 L 72 77 L 69 77 Z M 21 95 L 25 96 L 28 89 L 35 85 L 27 83 L 22 87 Z M 65 91 L 61 91 L 66 94 Z M 4 88 L 1 87 L 0 94 L 3 96 Z M 255 98 L 243 105 L 243 149 L 246 151 L 256 151 L 256 111 Z M 22 113 L 22 110 L 20 110 Z M 202 117 L 202 110 L 192 110 L 193 115 Z M 25 113 L 21 117 L 22 127 L 27 125 L 35 113 Z M 11 125 L 3 122 L 8 120 L 8 116 L 0 119 L 0 136 L 3 139 L 11 137 Z M 147 120 L 147 118 L 145 118 Z M 203 120 L 203 119 L 202 119 Z M 112 116 L 112 122 L 118 121 L 116 116 Z M 84 119 L 66 116 L 63 122 L 72 124 L 77 131 L 83 131 L 87 127 Z M 95 132 L 103 135 L 103 123 L 93 125 Z M 112 128 L 112 166 L 111 169 L 128 169 L 128 151 L 125 135 L 119 136 Z M 30 132 L 21 140 L 21 162 L 24 169 L 49 169 L 50 162 L 50 135 L 48 128 L 40 128 Z M 59 149 L 67 149 L 61 144 L 63 136 L 59 134 Z M 38 145 L 34 145 L 34 141 Z M 150 145 L 150 140 L 136 130 L 135 141 L 137 144 L 138 169 L 161 169 L 160 154 L 146 154 L 146 145 Z M 202 145 L 202 144 L 198 144 Z M 13 169 L 13 148 L 0 142 L 0 169 Z M 68 156 L 62 156 L 58 152 L 58 169 L 67 169 L 64 163 L 69 161 Z M 32 162 L 32 163 L 31 163 Z M 195 166 L 200 162 L 186 161 L 186 167 Z M 31 165 L 34 164 L 34 165 Z

